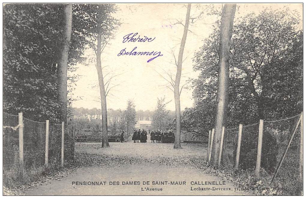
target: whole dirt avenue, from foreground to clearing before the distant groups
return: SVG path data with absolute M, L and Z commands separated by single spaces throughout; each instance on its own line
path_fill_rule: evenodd
M 151 143 L 110 143 L 110 148 L 100 148 L 100 143 L 77 143 L 76 151 L 80 155 L 94 155 L 94 158 L 108 155 L 114 158 L 112 165 L 93 164 L 92 157 L 79 170 L 61 181 L 53 180 L 48 184 L 29 189 L 26 195 L 249 195 L 235 192 L 235 186 L 229 182 L 223 184 L 222 178 L 203 173 L 191 166 L 182 166 L 174 162 L 154 163 L 153 160 L 165 158 L 174 159 L 183 156 L 184 159 L 198 156 L 206 157 L 206 146 L 203 144 L 182 144 L 183 149 L 173 149 L 173 144 Z M 86 154 L 85 154 L 86 153 Z M 144 162 L 129 164 L 118 163 L 118 158 L 142 158 Z M 116 160 L 117 158 L 117 160 Z M 122 160 L 120 160 L 122 161 Z M 174 164 L 175 163 L 175 164 Z M 202 165 L 202 164 L 201 164 Z M 90 167 L 89 167 L 90 166 Z M 76 182 L 98 182 L 99 185 L 76 185 Z M 102 181 L 102 184 L 100 184 Z M 106 181 L 104 183 L 103 181 Z M 136 181 L 136 185 L 123 185 L 122 182 Z M 139 181 L 139 182 L 138 182 Z M 149 181 L 150 185 L 144 185 Z M 152 181 L 164 181 L 164 185 L 153 185 Z M 168 181 L 167 184 L 165 181 Z M 185 181 L 183 185 L 171 185 L 171 181 Z M 192 182 L 193 181 L 193 182 Z M 215 185 L 193 184 L 198 181 L 215 181 Z M 219 182 L 220 181 L 220 182 Z M 110 182 L 119 185 L 110 185 Z M 134 183 L 134 182 L 133 182 Z M 223 184 L 223 185 L 220 185 Z M 88 183 L 87 183 L 88 184 Z M 193 185 L 192 185 L 193 184 Z M 208 183 L 207 183 L 208 184 Z M 216 185 L 218 184 L 218 185 Z M 147 189 L 149 188 L 149 189 Z M 152 189 L 158 191 L 152 191 Z M 203 188 L 203 189 L 202 189 Z

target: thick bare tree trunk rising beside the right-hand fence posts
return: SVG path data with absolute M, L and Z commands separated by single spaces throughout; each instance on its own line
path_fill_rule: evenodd
M 218 165 L 222 126 L 226 126 L 228 87 L 229 87 L 229 53 L 230 38 L 233 31 L 233 22 L 236 12 L 236 4 L 225 4 L 222 10 L 220 43 L 219 43 L 219 72 L 217 92 L 217 112 L 215 134 L 212 148 L 212 160 Z

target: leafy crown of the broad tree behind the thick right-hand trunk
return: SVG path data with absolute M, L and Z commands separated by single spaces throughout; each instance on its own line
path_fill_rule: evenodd
M 269 9 L 234 21 L 227 127 L 302 111 L 303 33 L 297 30 L 298 23 L 288 10 Z M 196 101 L 192 110 L 205 111 L 203 121 L 210 128 L 209 120 L 215 119 L 219 26 L 220 21 L 194 57 L 194 70 L 200 75 L 193 81 Z

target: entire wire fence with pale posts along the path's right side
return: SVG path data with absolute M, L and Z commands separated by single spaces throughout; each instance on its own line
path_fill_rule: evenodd
M 303 113 L 224 129 L 222 159 L 218 165 L 236 170 L 254 169 L 256 178 L 264 176 L 268 181 L 286 181 L 290 187 L 297 187 L 303 174 L 302 122 Z M 209 158 L 207 161 L 210 162 Z

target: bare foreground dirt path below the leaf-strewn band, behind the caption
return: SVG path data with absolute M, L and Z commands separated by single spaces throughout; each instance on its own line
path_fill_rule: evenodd
M 106 181 L 106 185 L 76 185 L 73 181 Z M 110 181 L 120 185 L 110 185 Z M 122 185 L 126 181 L 139 181 L 140 185 Z M 150 181 L 150 185 L 143 185 Z M 166 185 L 152 185 L 152 181 L 168 181 Z M 186 181 L 185 185 L 170 185 L 170 181 Z M 26 195 L 249 195 L 235 192 L 235 186 L 228 182 L 224 185 L 191 185 L 191 182 L 216 181 L 219 177 L 202 173 L 187 166 L 170 167 L 157 164 L 123 165 L 112 168 L 83 167 L 61 181 L 50 181 L 27 191 Z M 210 188 L 209 191 L 196 191 L 191 188 Z M 146 188 L 162 188 L 162 191 L 146 191 Z M 229 190 L 230 188 L 230 190 Z M 145 190 L 145 191 L 142 191 Z

